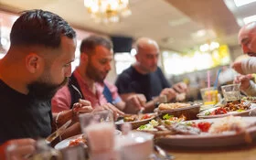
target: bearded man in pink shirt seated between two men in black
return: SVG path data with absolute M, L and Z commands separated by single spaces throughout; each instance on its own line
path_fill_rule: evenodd
M 61 88 L 52 99 L 52 111 L 68 110 L 79 99 L 85 99 L 91 101 L 94 108 L 101 105 L 110 108 L 113 104 L 116 108 L 112 107 L 112 111 L 116 114 L 138 112 L 144 106 L 143 95 L 133 95 L 124 102 L 116 87 L 105 80 L 111 70 L 112 56 L 112 42 L 107 38 L 91 36 L 83 39 L 80 65 L 70 77 L 69 85 Z

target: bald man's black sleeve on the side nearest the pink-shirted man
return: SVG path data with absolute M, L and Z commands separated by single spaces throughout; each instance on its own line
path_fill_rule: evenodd
M 119 94 L 135 92 L 131 87 L 131 78 L 128 74 L 122 73 L 115 81 L 115 86 L 118 89 Z

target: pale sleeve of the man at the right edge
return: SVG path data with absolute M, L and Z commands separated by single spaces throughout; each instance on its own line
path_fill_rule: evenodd
M 245 74 L 256 73 L 256 58 L 242 60 L 241 69 Z

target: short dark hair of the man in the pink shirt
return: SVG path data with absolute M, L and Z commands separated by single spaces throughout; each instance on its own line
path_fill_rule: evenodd
M 103 46 L 104 48 L 112 49 L 112 41 L 106 37 L 97 35 L 91 35 L 84 38 L 80 44 L 80 53 L 91 53 L 97 46 Z

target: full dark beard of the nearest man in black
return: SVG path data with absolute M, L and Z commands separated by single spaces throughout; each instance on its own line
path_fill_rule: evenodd
M 69 81 L 69 78 L 66 77 L 60 84 L 53 84 L 49 83 L 47 81 L 50 81 L 48 78 L 40 79 L 31 82 L 27 85 L 27 89 L 29 90 L 28 95 L 33 97 L 34 99 L 41 100 L 41 101 L 47 101 L 50 100 L 55 93 L 67 84 Z

